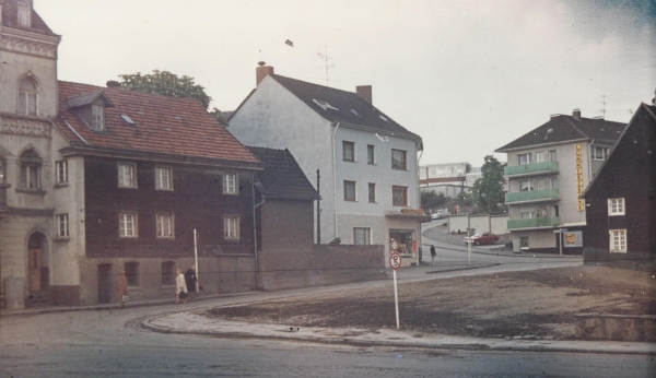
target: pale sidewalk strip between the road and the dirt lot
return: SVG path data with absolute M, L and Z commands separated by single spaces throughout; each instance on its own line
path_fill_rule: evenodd
M 209 318 L 202 311 L 181 311 L 142 320 L 141 326 L 161 333 L 199 334 L 218 338 L 301 341 L 356 346 L 422 347 L 468 351 L 523 351 L 564 353 L 656 354 L 656 344 L 612 341 L 557 341 L 524 339 L 476 339 L 409 333 L 394 328 L 296 328 L 294 324 L 247 323 Z

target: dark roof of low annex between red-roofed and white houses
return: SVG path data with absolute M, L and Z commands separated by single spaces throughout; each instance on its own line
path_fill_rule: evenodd
M 320 199 L 289 150 L 248 147 L 265 165 L 257 173 L 256 187 L 263 197 L 285 200 Z

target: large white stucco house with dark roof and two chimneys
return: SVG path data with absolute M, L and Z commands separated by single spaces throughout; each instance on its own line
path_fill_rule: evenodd
M 394 238 L 403 264 L 418 263 L 426 220 L 419 210 L 421 138 L 372 105 L 371 86 L 340 91 L 274 74 L 263 63 L 256 79 L 229 130 L 246 145 L 293 153 L 323 198 L 317 239 L 388 246 Z

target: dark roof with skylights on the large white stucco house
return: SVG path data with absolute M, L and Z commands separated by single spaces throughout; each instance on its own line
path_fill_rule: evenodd
M 421 140 L 421 137 L 408 131 L 356 93 L 273 73 L 269 73 L 269 76 L 331 122 L 348 123 L 371 129 L 374 132 Z

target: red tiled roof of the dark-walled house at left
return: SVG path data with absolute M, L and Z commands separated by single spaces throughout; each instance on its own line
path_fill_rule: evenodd
M 67 99 L 97 91 L 114 104 L 105 108 L 104 131 L 91 130 L 74 109 L 67 107 Z M 134 126 L 121 115 L 132 119 Z M 258 163 L 194 99 L 60 81 L 59 117 L 55 123 L 73 146 Z

